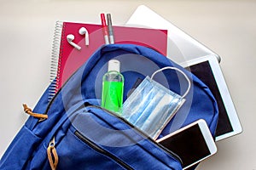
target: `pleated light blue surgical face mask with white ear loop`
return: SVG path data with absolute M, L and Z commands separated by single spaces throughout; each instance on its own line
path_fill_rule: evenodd
M 156 73 L 166 69 L 179 71 L 189 82 L 189 87 L 183 96 L 153 80 Z M 189 88 L 189 78 L 183 71 L 175 67 L 164 67 L 155 71 L 151 78 L 146 77 L 125 100 L 122 116 L 147 133 L 152 139 L 157 139 L 166 124 L 171 121 L 172 116 L 183 105 L 184 97 L 189 93 Z

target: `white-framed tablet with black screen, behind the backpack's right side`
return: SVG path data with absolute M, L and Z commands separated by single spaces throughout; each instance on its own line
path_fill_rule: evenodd
M 230 97 L 216 56 L 209 54 L 201 58 L 191 59 L 181 65 L 201 79 L 210 88 L 213 96 L 217 100 L 219 116 L 216 140 L 225 139 L 241 133 L 241 123 L 236 114 L 235 106 Z

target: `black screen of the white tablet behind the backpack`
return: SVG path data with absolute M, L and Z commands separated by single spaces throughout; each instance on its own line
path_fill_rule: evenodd
M 221 98 L 209 61 L 204 61 L 195 65 L 190 65 L 186 69 L 191 71 L 196 77 L 201 79 L 201 81 L 204 82 L 208 86 L 208 88 L 210 88 L 213 96 L 217 100 L 219 114 L 218 114 L 218 126 L 216 129 L 215 135 L 220 136 L 224 133 L 233 132 L 233 128 L 230 123 L 229 116 L 224 107 L 224 101 Z

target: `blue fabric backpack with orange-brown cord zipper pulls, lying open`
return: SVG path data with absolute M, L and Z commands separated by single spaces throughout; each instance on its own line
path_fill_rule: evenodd
M 48 101 L 49 88 L 0 161 L 0 169 L 182 169 L 182 161 L 120 116 L 99 106 L 102 75 L 109 59 L 119 59 L 125 77 L 124 101 L 137 78 L 172 66 L 192 87 L 183 107 L 160 134 L 204 119 L 214 136 L 218 108 L 209 88 L 197 77 L 151 48 L 131 44 L 102 46 Z M 186 80 L 163 71 L 157 82 L 181 94 Z M 38 113 L 38 114 L 36 114 Z M 42 115 L 40 115 L 41 113 Z

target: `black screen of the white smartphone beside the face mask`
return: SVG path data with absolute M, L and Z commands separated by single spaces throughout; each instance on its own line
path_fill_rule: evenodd
M 183 168 L 191 167 L 211 156 L 212 150 L 209 149 L 208 143 L 198 123 L 159 141 L 159 144 L 172 150 L 181 158 Z

